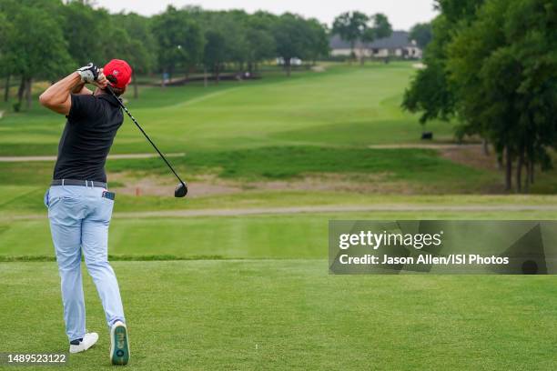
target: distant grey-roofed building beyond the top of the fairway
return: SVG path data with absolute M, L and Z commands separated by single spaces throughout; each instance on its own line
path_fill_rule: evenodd
M 339 35 L 334 35 L 330 39 L 329 45 L 331 55 L 350 55 L 349 42 L 340 39 Z M 408 32 L 393 31 L 389 37 L 377 39 L 370 44 L 357 41 L 354 45 L 354 54 L 357 58 L 364 55 L 379 58 L 397 56 L 407 59 L 420 59 L 422 51 L 414 40 L 409 39 Z

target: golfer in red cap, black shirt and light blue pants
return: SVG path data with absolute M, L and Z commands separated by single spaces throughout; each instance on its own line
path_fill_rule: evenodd
M 106 85 L 122 95 L 131 75 L 131 67 L 122 60 L 113 59 L 104 68 L 89 64 L 39 97 L 41 105 L 67 117 L 45 205 L 61 278 L 69 351 L 86 351 L 98 340 L 96 333 L 86 333 L 83 253 L 105 309 L 114 365 L 127 364 L 129 346 L 116 275 L 107 260 L 108 225 L 115 195 L 106 187 L 105 162 L 124 116 L 116 97 L 106 92 Z M 96 85 L 95 92 L 86 88 L 87 83 Z

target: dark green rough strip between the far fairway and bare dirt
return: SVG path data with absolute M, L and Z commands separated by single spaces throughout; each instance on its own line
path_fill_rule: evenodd
M 173 157 L 172 163 L 188 174 L 217 170 L 224 178 L 291 178 L 318 173 L 387 173 L 393 178 L 412 181 L 462 179 L 477 180 L 486 171 L 453 164 L 431 149 L 367 149 L 318 146 L 280 146 L 227 152 L 195 152 Z M 3 185 L 38 185 L 52 177 L 53 163 L 0 163 Z M 167 174 L 160 158 L 111 160 L 107 171 L 137 171 Z M 440 177 L 445 177 L 440 179 Z

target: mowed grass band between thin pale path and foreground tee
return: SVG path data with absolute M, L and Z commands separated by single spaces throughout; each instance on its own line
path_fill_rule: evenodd
M 330 219 L 554 219 L 555 211 L 335 212 L 259 216 L 115 217 L 112 256 L 325 258 Z M 54 256 L 48 220 L 0 222 L 0 256 Z

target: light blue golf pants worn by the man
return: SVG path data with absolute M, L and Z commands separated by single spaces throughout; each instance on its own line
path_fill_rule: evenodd
M 50 231 L 61 278 L 66 334 L 70 341 L 86 333 L 86 312 L 81 280 L 81 253 L 112 326 L 125 321 L 114 270 L 108 264 L 108 225 L 114 201 L 106 189 L 86 186 L 51 186 L 45 195 Z

